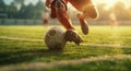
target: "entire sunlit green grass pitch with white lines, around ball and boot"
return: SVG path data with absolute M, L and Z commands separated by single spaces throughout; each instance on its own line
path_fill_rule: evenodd
M 0 26 L 0 71 L 130 71 L 131 26 L 90 26 L 78 46 L 48 50 L 44 34 L 51 26 Z M 60 26 L 61 27 L 61 26 Z

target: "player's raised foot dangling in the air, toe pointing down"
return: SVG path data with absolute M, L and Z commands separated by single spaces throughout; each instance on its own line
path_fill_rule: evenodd
M 82 29 L 83 34 L 87 35 L 88 34 L 87 22 L 85 21 L 85 19 L 81 17 L 81 14 L 78 14 L 78 17 L 80 19 L 81 29 Z

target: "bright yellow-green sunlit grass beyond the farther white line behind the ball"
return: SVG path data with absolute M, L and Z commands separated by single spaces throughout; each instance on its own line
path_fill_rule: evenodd
M 0 36 L 43 39 L 44 33 L 51 26 L 0 26 Z M 131 26 L 90 26 L 90 34 L 84 36 L 80 26 L 75 27 L 85 43 L 131 45 Z

